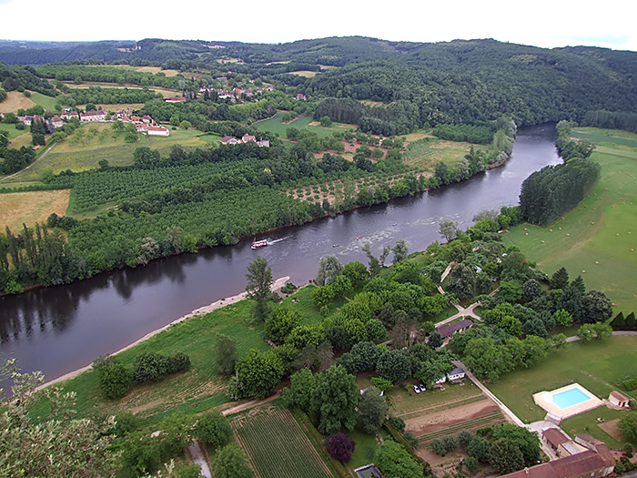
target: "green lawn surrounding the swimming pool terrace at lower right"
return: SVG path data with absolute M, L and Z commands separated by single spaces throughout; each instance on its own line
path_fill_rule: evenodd
M 620 381 L 635 376 L 637 337 L 621 336 L 608 341 L 572 342 L 531 369 L 506 374 L 489 389 L 521 420 L 535 422 L 546 412 L 533 402 L 533 393 L 578 382 L 599 398 L 607 398 L 610 392 L 619 390 Z M 634 393 L 622 393 L 637 398 Z

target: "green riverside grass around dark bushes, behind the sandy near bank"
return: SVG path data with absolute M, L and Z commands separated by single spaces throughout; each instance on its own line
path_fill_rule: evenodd
M 80 416 L 126 410 L 147 422 L 158 422 L 166 414 L 202 412 L 227 402 L 224 393 L 226 379 L 217 374 L 212 347 L 216 334 L 223 333 L 237 340 L 240 357 L 250 349 L 268 350 L 268 345 L 261 338 L 263 327 L 253 326 L 248 321 L 251 306 L 250 300 L 241 300 L 204 316 L 185 320 L 117 355 L 119 361 L 132 369 L 135 357 L 143 351 L 167 355 L 183 351 L 192 362 L 190 371 L 168 376 L 156 383 L 134 385 L 124 398 L 114 401 L 102 396 L 95 371 L 86 371 L 62 386 L 67 392 L 77 393 L 76 409 Z M 45 412 L 42 407 L 36 411 L 37 414 Z

